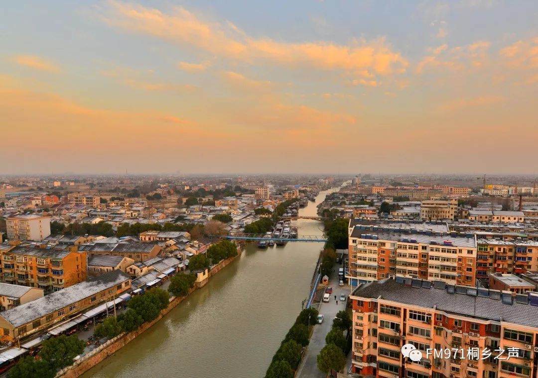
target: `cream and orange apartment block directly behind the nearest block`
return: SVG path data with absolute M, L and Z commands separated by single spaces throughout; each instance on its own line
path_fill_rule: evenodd
M 418 224 L 410 226 L 419 227 Z M 436 230 L 446 230 L 446 226 L 436 226 Z M 474 236 L 454 236 L 424 227 L 403 229 L 397 224 L 392 227 L 359 225 L 353 227 L 349 236 L 346 278 L 353 286 L 387 277 L 436 279 L 473 286 L 476 259 Z

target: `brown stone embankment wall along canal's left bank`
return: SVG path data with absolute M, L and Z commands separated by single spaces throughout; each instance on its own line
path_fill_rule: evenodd
M 215 265 L 213 268 L 211 268 L 211 270 L 209 271 L 209 278 L 213 277 L 218 271 L 220 271 L 226 265 L 230 264 L 233 260 L 238 258 L 240 254 L 241 252 L 238 251 L 238 255 L 236 257 L 230 257 L 226 260 L 223 260 L 217 265 Z M 206 283 L 207 283 L 207 280 L 206 280 Z M 190 289 L 188 295 L 190 295 L 195 290 L 196 290 L 196 287 Z M 155 318 L 153 321 L 142 324 L 140 328 L 137 329 L 136 331 L 122 333 L 122 335 L 116 336 L 114 339 L 107 341 L 107 343 L 101 345 L 100 347 L 96 348 L 90 353 L 84 355 L 84 357 L 76 361 L 74 365 L 68 366 L 65 369 L 60 370 L 60 372 L 56 374 L 55 378 L 76 378 L 82 375 L 83 373 L 87 372 L 89 369 L 99 364 L 109 355 L 116 353 L 116 351 L 123 348 L 125 345 L 129 344 L 134 338 L 144 333 L 153 324 L 157 323 L 163 316 L 168 314 L 168 312 L 170 312 L 174 307 L 178 306 L 178 304 L 181 303 L 184 299 L 186 299 L 187 296 L 174 298 L 170 302 L 168 307 L 162 310 L 161 314 L 157 318 Z

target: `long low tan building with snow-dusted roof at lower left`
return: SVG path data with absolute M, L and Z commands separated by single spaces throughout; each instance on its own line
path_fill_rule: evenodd
M 83 310 L 113 301 L 130 288 L 131 278 L 116 270 L 0 312 L 2 341 L 17 342 L 34 333 L 47 330 L 51 325 L 74 317 Z M 103 311 L 104 309 L 101 310 Z

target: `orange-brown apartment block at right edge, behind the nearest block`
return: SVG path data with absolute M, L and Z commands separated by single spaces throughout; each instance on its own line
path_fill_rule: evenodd
M 538 242 L 525 239 L 478 239 L 477 278 L 489 273 L 526 273 L 538 270 Z

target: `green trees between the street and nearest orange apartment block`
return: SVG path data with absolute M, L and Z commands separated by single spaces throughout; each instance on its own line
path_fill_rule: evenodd
M 317 367 L 323 373 L 327 374 L 330 369 L 341 372 L 344 368 L 346 355 L 351 350 L 351 324 L 348 312 L 338 311 L 332 321 L 332 329 L 325 336 L 325 346 L 317 355 Z

